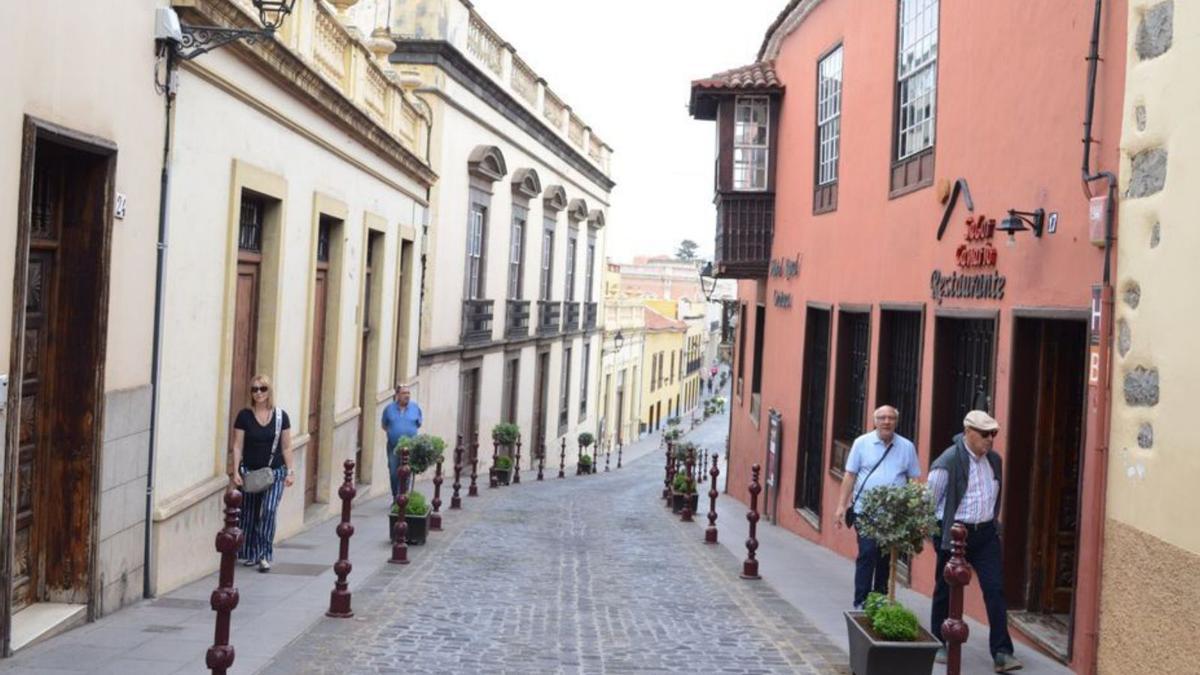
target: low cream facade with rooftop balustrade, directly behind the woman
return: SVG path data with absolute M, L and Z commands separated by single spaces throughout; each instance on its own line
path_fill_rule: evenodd
M 178 4 L 185 25 L 252 26 L 248 0 Z M 416 368 L 427 119 L 376 38 L 298 0 L 271 40 L 179 62 L 172 112 L 151 589 L 216 568 L 211 533 L 250 377 L 290 419 L 296 482 L 276 538 L 389 492 L 379 416 Z

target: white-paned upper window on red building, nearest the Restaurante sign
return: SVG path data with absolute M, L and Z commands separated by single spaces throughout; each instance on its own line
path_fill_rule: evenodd
M 900 0 L 896 40 L 896 160 L 934 145 L 938 0 Z

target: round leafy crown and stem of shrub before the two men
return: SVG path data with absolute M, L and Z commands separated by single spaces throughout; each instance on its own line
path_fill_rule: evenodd
M 901 554 L 920 552 L 925 539 L 937 530 L 934 503 L 920 483 L 881 485 L 863 492 L 854 526 L 863 537 L 875 539 L 892 556 L 888 571 L 888 601 L 896 599 L 896 561 Z

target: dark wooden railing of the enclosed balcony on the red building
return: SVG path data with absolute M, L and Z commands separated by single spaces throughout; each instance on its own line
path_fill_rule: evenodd
M 775 232 L 775 196 L 718 192 L 716 273 L 726 279 L 766 279 Z

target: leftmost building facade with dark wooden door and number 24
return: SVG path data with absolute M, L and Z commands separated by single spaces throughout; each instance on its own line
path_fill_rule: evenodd
M 163 5 L 0 4 L 5 655 L 143 591 Z

